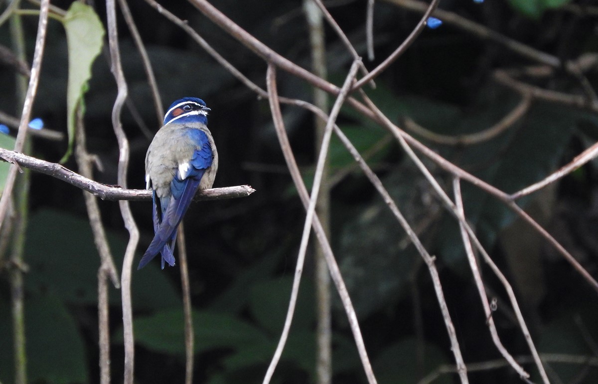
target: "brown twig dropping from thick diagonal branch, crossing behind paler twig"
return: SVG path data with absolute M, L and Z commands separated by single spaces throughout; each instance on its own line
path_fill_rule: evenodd
M 305 187 L 303 178 L 301 178 L 299 167 L 297 166 L 297 162 L 295 161 L 295 157 L 293 156 L 288 137 L 286 136 L 284 123 L 282 121 L 282 112 L 280 112 L 278 93 L 276 89 L 276 70 L 274 69 L 273 65 L 268 66 L 267 86 L 270 100 L 270 108 L 274 120 L 274 128 L 276 129 L 276 133 L 279 138 L 280 148 L 282 148 L 282 153 L 285 157 L 285 161 L 289 168 L 289 172 L 291 173 L 293 182 L 295 183 L 295 187 L 297 187 L 297 191 L 301 198 L 301 202 L 303 203 L 304 208 L 307 209 L 307 206 L 309 205 L 309 194 L 307 193 L 307 188 Z M 309 105 L 309 103 L 305 103 L 304 105 L 307 106 Z M 316 108 L 313 105 L 312 107 Z M 357 346 L 359 358 L 361 359 L 361 363 L 364 367 L 365 376 L 368 379 L 368 383 L 376 384 L 376 377 L 374 376 L 374 372 L 372 371 L 367 351 L 365 351 L 364 340 L 361 335 L 361 330 L 359 330 L 359 322 L 357 321 L 355 309 L 353 308 L 353 304 L 351 303 L 349 292 L 347 292 L 347 287 L 344 284 L 343 276 L 340 273 L 340 269 L 338 269 L 338 264 L 336 263 L 336 260 L 334 258 L 334 253 L 332 252 L 332 248 L 330 246 L 330 243 L 328 242 L 328 238 L 326 237 L 324 228 L 322 228 L 322 224 L 320 223 L 320 220 L 317 215 L 313 217 L 313 230 L 315 231 L 316 237 L 318 237 L 318 241 L 322 246 L 322 249 L 324 249 L 324 255 L 328 263 L 330 276 L 332 278 L 332 281 L 334 282 L 335 287 L 337 288 L 338 295 L 341 298 L 343 308 L 345 310 L 345 313 L 347 314 L 347 319 L 349 321 L 349 326 L 353 333 L 353 339 L 355 339 L 355 345 Z

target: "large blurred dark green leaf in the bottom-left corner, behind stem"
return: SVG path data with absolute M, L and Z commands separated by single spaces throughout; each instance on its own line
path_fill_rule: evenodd
M 13 380 L 13 332 L 8 303 L 0 300 L 0 381 Z M 78 327 L 61 298 L 50 292 L 25 301 L 29 382 L 87 383 L 86 351 Z

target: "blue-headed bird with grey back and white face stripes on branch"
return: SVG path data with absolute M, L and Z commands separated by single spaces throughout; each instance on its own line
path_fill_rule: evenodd
M 210 108 L 197 97 L 176 100 L 149 144 L 145 182 L 146 188 L 154 191 L 155 235 L 137 269 L 143 268 L 158 253 L 162 254 L 162 269 L 164 263 L 175 265 L 176 228 L 196 191 L 212 188 L 218 153 L 207 126 L 208 111 Z

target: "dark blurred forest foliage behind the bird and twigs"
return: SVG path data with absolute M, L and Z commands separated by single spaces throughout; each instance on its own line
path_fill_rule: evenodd
M 66 10 L 71 1 L 52 4 Z M 254 194 L 242 199 L 197 202 L 185 217 L 191 300 L 194 308 L 195 382 L 259 382 L 274 352 L 288 305 L 304 209 L 289 177 L 276 138 L 267 100 L 236 80 L 184 31 L 141 0 L 128 2 L 148 50 L 166 108 L 184 96 L 201 97 L 212 109 L 209 128 L 219 153 L 214 187 L 249 184 Z M 212 4 L 274 51 L 309 69 L 306 17 L 300 1 Z M 105 4 L 93 2 L 105 25 Z M 164 7 L 200 33 L 225 59 L 263 89 L 266 63 L 184 1 Z M 365 1 L 328 1 L 329 11 L 350 41 L 374 68 L 413 31 L 421 13 L 390 1 L 374 8 L 375 59 L 365 54 Z M 0 1 L 0 10 L 7 2 Z M 22 1 L 22 8 L 36 6 Z M 577 60 L 598 48 L 598 12 L 592 1 L 443 1 L 440 8 L 502 33 L 527 47 L 560 60 Z M 118 13 L 118 11 L 117 11 Z M 157 120 L 141 57 L 124 20 L 119 35 L 129 99 L 123 127 L 130 141 L 129 188 L 144 188 L 145 152 Z M 23 16 L 26 53 L 33 55 L 38 18 Z M 340 86 L 352 57 L 335 33 L 325 28 L 329 80 Z M 0 44 L 11 47 L 9 23 L 0 26 Z M 117 184 L 118 146 L 111 124 L 116 96 L 104 50 L 93 65 L 85 96 L 87 150 L 102 170 L 94 179 Z M 538 66 L 502 44 L 481 39 L 443 23 L 426 28 L 395 63 L 365 87 L 377 106 L 399 127 L 413 121 L 426 132 L 458 136 L 480 132 L 501 121 L 521 95 L 499 84 L 496 69 Z M 581 81 L 563 68 L 524 82 L 570 95 L 584 95 Z M 16 71 L 0 63 L 0 110 L 20 117 Z M 51 19 L 33 117 L 46 129 L 66 133 L 68 50 L 61 23 Z M 312 100 L 312 87 L 278 72 L 280 96 Z M 598 66 L 585 73 L 596 89 Z M 588 85 L 589 84 L 589 85 Z M 587 87 L 586 87 L 587 88 Z M 594 95 L 595 97 L 595 95 Z M 333 102 L 330 99 L 330 103 Z M 304 179 L 311 185 L 315 163 L 313 116 L 283 106 L 286 129 Z M 598 138 L 597 112 L 559 102 L 534 99 L 507 129 L 476 144 L 447 145 L 433 135 L 416 138 L 463 169 L 507 193 L 554 172 Z M 366 157 L 405 217 L 419 234 L 437 266 L 466 363 L 498 361 L 470 371 L 472 383 L 521 382 L 501 365 L 459 230 L 394 138 L 371 120 L 343 108 L 338 124 Z M 12 131 L 14 135 L 14 130 Z M 12 149 L 11 147 L 9 149 Z M 57 162 L 67 141 L 33 138 L 30 154 Z M 417 383 L 443 364 L 454 364 L 431 278 L 388 207 L 333 138 L 331 175 L 331 242 L 358 313 L 365 345 L 379 383 Z M 426 161 L 450 194 L 451 176 Z M 77 169 L 71 157 L 65 166 Z M 596 276 L 598 188 L 596 162 L 519 201 L 581 264 Z M 465 212 L 484 246 L 505 273 L 523 308 L 532 338 L 546 356 L 555 383 L 598 380 L 598 297 L 596 291 L 529 225 L 520 223 L 502 203 L 463 183 Z M 127 231 L 117 202 L 100 201 L 118 270 Z M 139 249 L 152 238 L 151 204 L 132 202 L 141 230 Z M 315 382 L 315 300 L 313 246 L 308 251 L 295 320 L 273 383 Z M 141 255 L 141 254 L 140 254 Z M 140 256 L 139 255 L 139 256 Z M 50 176 L 31 174 L 24 251 L 25 323 L 29 381 L 32 383 L 99 382 L 97 349 L 97 268 L 83 194 Z M 7 256 L 0 272 L 0 381 L 13 382 L 10 288 Z M 135 265 L 138 258 L 135 261 Z M 136 382 L 182 382 L 184 338 L 179 267 L 160 270 L 158 261 L 133 272 Z M 489 297 L 498 309 L 494 319 L 508 351 L 539 382 L 529 350 L 507 295 L 498 279 L 480 262 Z M 112 378 L 123 370 L 120 291 L 111 288 Z M 333 296 L 333 377 L 338 383 L 365 383 L 352 334 L 337 294 Z M 548 353 L 558 355 L 546 355 Z M 557 356 L 557 357 L 554 357 Z M 552 357 L 553 359 L 550 359 Z M 498 359 L 498 360 L 497 360 Z M 565 361 L 565 362 L 563 362 Z M 443 374 L 434 383 L 457 382 Z

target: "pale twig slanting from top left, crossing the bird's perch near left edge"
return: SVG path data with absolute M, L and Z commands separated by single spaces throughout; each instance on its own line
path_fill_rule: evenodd
M 37 94 L 37 86 L 39 83 L 39 72 L 41 71 L 42 57 L 44 56 L 44 45 L 45 36 L 48 27 L 48 7 L 50 0 L 42 0 L 41 8 L 39 8 L 39 23 L 38 33 L 35 38 L 35 51 L 33 52 L 33 63 L 31 64 L 31 77 L 29 77 L 29 86 L 27 89 L 27 95 L 25 96 L 25 102 L 23 103 L 23 112 L 21 114 L 21 121 L 19 124 L 19 132 L 17 133 L 17 139 L 14 143 L 14 151 L 21 152 L 27 133 L 29 132 L 28 126 L 31 119 L 31 109 L 33 108 L 33 100 Z M 4 218 L 10 202 L 14 181 L 17 177 L 18 168 L 16 165 L 12 165 L 8 170 L 8 175 L 4 184 L 4 190 L 2 190 L 2 197 L 0 197 L 0 229 L 4 223 Z

